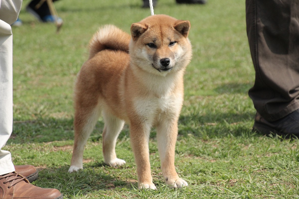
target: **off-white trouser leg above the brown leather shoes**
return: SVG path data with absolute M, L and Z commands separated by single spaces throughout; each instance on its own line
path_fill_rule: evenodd
M 0 0 L 0 175 L 15 171 L 10 152 L 1 150 L 13 130 L 13 33 L 22 0 Z

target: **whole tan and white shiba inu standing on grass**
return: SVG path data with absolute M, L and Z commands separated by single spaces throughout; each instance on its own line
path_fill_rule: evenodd
M 126 162 L 115 154 L 125 122 L 135 155 L 138 188 L 156 189 L 149 163 L 149 133 L 156 127 L 161 169 L 167 185 L 187 186 L 175 165 L 178 119 L 183 103 L 183 75 L 191 59 L 189 21 L 149 16 L 131 26 L 131 36 L 113 25 L 90 41 L 74 94 L 74 149 L 69 172 L 83 168 L 83 149 L 101 113 L 103 156 L 109 166 Z

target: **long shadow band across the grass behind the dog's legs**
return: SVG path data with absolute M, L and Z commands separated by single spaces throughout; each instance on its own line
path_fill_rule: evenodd
M 181 114 L 179 118 L 179 135 L 192 133 L 198 137 L 214 137 L 242 135 L 251 131 L 254 113 L 211 113 L 202 115 L 200 112 Z M 248 126 L 249 124 L 249 126 Z M 104 123 L 97 122 L 90 139 L 98 141 L 102 138 Z M 125 125 L 119 138 L 129 137 L 129 127 Z M 151 138 L 155 137 L 155 129 Z M 13 133 L 8 144 L 30 142 L 52 142 L 74 140 L 73 119 L 42 118 L 32 121 L 15 121 Z

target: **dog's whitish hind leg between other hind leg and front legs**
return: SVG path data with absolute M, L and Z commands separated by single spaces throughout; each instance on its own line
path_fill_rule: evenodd
M 103 119 L 105 122 L 103 130 L 103 155 L 105 163 L 112 167 L 122 166 L 126 161 L 116 157 L 115 145 L 118 135 L 121 129 L 123 129 L 124 121 L 105 111 L 103 111 Z

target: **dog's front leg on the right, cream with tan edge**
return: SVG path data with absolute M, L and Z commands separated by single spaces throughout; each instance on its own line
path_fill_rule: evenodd
M 174 165 L 177 135 L 177 119 L 161 121 L 157 126 L 158 150 L 160 153 L 163 177 L 166 184 L 173 188 L 188 186 L 186 181 L 179 178 Z

